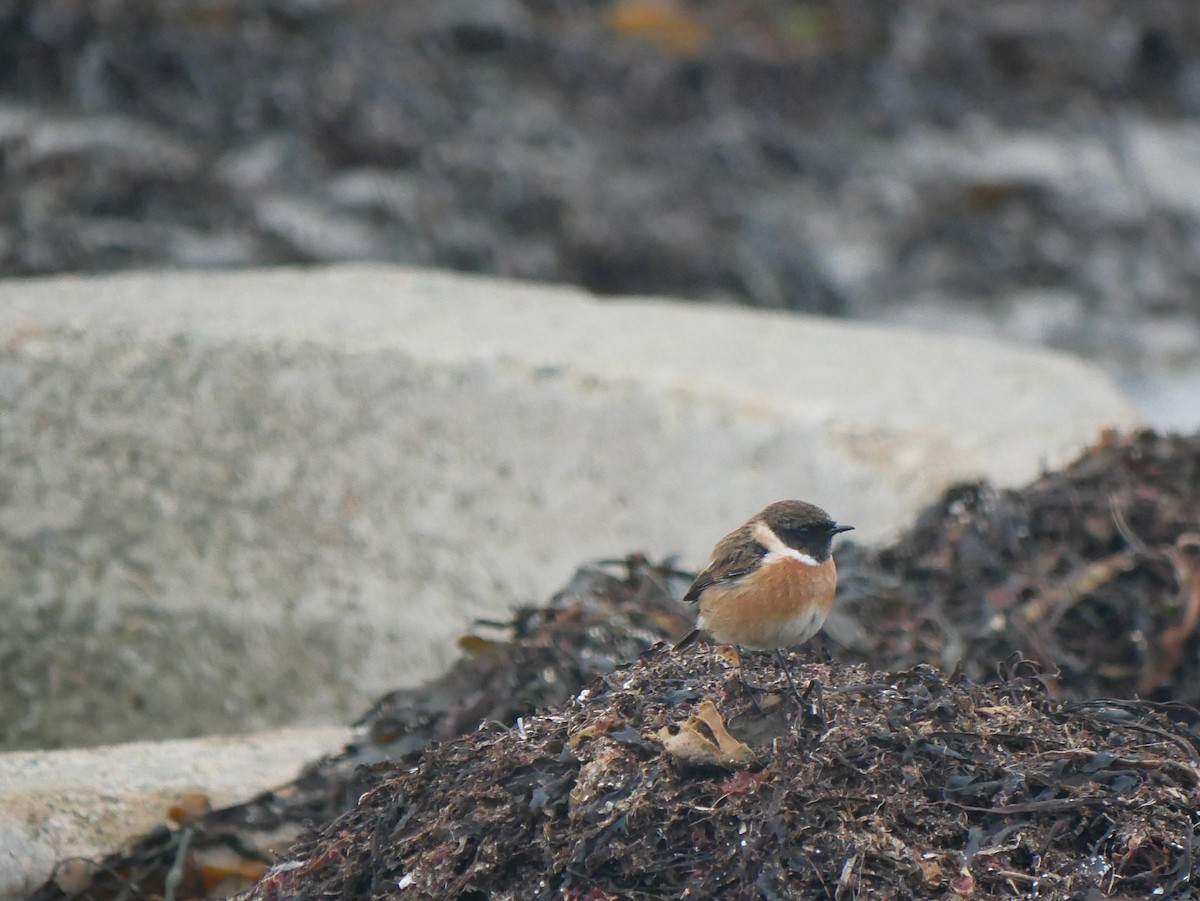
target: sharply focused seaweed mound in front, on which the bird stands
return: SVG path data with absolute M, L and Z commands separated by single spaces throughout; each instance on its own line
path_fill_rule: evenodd
M 709 650 L 655 649 L 562 709 L 396 765 L 251 897 L 1200 889 L 1200 755 L 1151 704 L 806 669 L 802 697 L 758 661 L 760 696 Z

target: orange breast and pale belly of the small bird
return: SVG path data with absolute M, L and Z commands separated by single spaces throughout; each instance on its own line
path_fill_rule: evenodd
M 816 635 L 836 588 L 833 559 L 812 566 L 779 557 L 740 579 L 709 585 L 697 625 L 725 644 L 787 648 Z

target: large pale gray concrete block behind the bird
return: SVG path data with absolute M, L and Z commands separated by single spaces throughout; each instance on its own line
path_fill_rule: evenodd
M 881 540 L 1135 421 L 1091 366 L 396 268 L 0 283 L 0 744 L 344 722 L 581 561 Z

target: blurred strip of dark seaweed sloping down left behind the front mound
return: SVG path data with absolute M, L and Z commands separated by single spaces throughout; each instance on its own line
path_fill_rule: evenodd
M 35 901 L 226 897 L 253 883 L 305 828 L 329 823 L 389 771 L 481 722 L 515 723 L 554 708 L 584 683 L 612 672 L 695 613 L 679 603 L 689 573 L 640 554 L 580 569 L 548 605 L 517 609 L 510 623 L 479 623 L 463 636 L 467 655 L 444 675 L 380 698 L 359 721 L 360 738 L 305 768 L 292 783 L 244 804 L 206 810 L 192 798 L 167 811 L 158 829 L 100 861 L 68 860 Z

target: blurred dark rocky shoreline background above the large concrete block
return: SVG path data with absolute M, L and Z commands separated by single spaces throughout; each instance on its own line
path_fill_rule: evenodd
M 390 260 L 1000 335 L 1200 425 L 1194 0 L 0 0 L 0 275 Z

